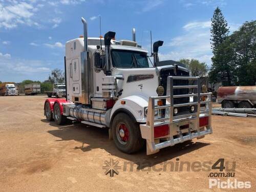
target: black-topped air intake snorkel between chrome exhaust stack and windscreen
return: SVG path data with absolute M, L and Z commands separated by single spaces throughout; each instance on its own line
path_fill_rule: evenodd
M 111 45 L 111 39 L 115 38 L 116 32 L 109 31 L 104 35 L 104 45 L 105 45 L 105 51 L 106 51 L 106 75 L 111 76 L 111 66 L 110 66 L 110 45 Z

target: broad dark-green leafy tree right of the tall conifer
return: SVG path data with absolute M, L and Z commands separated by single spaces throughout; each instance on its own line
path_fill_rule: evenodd
M 212 58 L 210 79 L 216 77 L 223 86 L 253 86 L 256 81 L 256 21 L 245 22 L 218 47 Z M 214 65 L 221 61 L 222 65 Z M 214 81 L 211 81 L 214 82 Z

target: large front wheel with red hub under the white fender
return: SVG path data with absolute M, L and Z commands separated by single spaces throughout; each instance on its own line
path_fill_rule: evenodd
M 144 144 L 139 124 L 125 113 L 117 114 L 112 122 L 112 135 L 115 145 L 121 152 L 131 154 L 139 151 Z

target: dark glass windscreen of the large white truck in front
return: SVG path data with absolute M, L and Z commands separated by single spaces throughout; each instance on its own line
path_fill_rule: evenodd
M 112 50 L 112 65 L 116 68 L 149 68 L 147 54 L 139 51 Z

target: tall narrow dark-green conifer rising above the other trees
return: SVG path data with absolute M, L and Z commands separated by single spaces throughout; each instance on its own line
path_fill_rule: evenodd
M 228 37 L 229 28 L 221 10 L 217 7 L 211 18 L 211 49 L 214 56 L 211 58 L 212 66 L 209 72 L 211 82 L 222 81 L 230 85 L 232 78 L 230 75 L 230 63 L 223 60 L 226 48 L 221 47 L 222 42 Z M 226 50 L 227 51 L 227 50 Z

